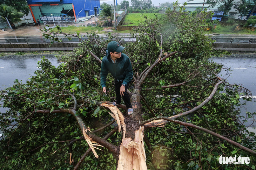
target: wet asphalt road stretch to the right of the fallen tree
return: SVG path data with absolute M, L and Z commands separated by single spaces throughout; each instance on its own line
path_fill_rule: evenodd
M 213 57 L 211 58 L 216 63 L 222 63 L 230 70 L 223 71 L 219 74 L 220 77 L 227 79 L 230 84 L 242 85 L 252 92 L 253 100 L 247 102 L 241 108 L 241 114 L 244 117 L 247 116 L 245 112 L 256 112 L 256 54 L 232 54 L 225 57 Z M 241 98 L 240 102 L 244 100 Z M 256 118 L 255 118 L 256 119 Z M 246 127 L 256 127 L 256 122 L 253 119 L 249 119 L 244 123 Z

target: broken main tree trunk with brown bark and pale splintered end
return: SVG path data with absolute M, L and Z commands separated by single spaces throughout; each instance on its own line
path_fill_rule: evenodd
M 136 95 L 134 96 L 135 98 Z M 135 99 L 135 98 L 131 98 Z M 141 110 L 141 105 L 138 106 L 137 100 L 132 100 L 135 104 L 134 113 L 132 116 L 126 118 L 120 112 L 120 110 L 109 104 L 101 104 L 104 107 L 108 107 L 114 119 L 116 119 L 119 128 L 119 132 L 122 130 L 122 143 L 120 145 L 119 160 L 117 170 L 147 170 L 146 165 L 146 153 L 144 149 L 143 132 L 144 127 L 140 127 L 140 118 L 136 112 Z

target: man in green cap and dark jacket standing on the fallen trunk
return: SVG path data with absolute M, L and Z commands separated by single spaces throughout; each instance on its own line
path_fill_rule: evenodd
M 133 107 L 130 101 L 130 96 L 127 93 L 127 88 L 133 78 L 132 64 L 130 58 L 123 54 L 124 47 L 122 47 L 116 41 L 108 43 L 107 55 L 103 57 L 101 63 L 100 72 L 100 85 L 105 94 L 108 93 L 106 90 L 106 79 L 108 72 L 115 78 L 115 93 L 116 101 L 113 105 L 121 104 L 121 96 L 128 109 L 128 115 L 133 113 Z

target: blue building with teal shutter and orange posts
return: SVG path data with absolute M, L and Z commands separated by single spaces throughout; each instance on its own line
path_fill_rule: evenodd
M 100 14 L 100 0 L 27 0 L 34 22 L 43 16 L 73 16 L 76 18 Z

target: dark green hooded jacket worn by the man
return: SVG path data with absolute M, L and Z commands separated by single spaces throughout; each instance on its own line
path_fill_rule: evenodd
M 107 53 L 105 57 L 103 57 L 101 62 L 101 72 L 100 72 L 100 85 L 101 87 L 106 87 L 106 79 L 107 75 L 110 74 L 117 80 L 123 80 L 123 84 L 128 84 L 132 81 L 133 78 L 133 70 L 132 64 L 130 62 L 130 58 L 121 54 L 120 58 L 117 58 L 115 63 L 110 58 L 110 54 Z

